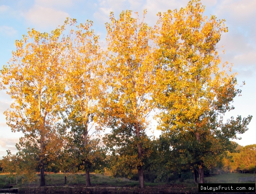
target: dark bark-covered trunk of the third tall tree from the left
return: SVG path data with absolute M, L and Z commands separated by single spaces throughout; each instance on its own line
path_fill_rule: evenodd
M 138 159 L 140 160 L 142 158 L 143 148 L 142 148 L 142 144 L 140 142 L 140 129 L 139 129 L 138 123 L 136 123 L 135 130 L 136 130 L 136 136 L 137 136 L 137 141 L 138 141 L 138 144 L 137 144 L 137 146 L 138 146 Z M 140 188 L 145 188 L 143 168 L 142 168 L 141 165 L 138 165 L 137 168 L 138 168 L 138 172 L 139 172 Z

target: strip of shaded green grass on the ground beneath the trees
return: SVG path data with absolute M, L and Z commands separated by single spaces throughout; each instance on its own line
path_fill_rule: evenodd
M 64 174 L 46 174 L 45 182 L 46 185 L 64 185 Z M 206 183 L 237 183 L 239 177 L 251 177 L 253 174 L 217 174 L 213 177 L 205 177 Z M 35 181 L 28 182 L 24 181 L 22 183 L 23 177 L 18 177 L 17 186 L 39 186 L 40 176 L 37 174 L 35 176 Z M 6 181 L 5 181 L 6 179 Z M 114 187 L 134 187 L 138 186 L 138 181 L 129 180 L 127 178 L 112 178 L 102 174 L 90 174 L 90 181 L 92 186 L 114 186 Z M 9 177 L 9 175 L 0 174 L 0 188 L 4 185 L 15 185 L 16 186 L 16 177 Z M 146 186 L 160 186 L 166 183 L 151 183 L 146 182 Z M 191 185 L 195 186 L 192 179 L 187 180 L 173 180 L 167 184 L 179 184 L 179 185 Z M 67 175 L 67 185 L 75 186 L 75 185 L 85 185 L 85 174 L 68 174 Z

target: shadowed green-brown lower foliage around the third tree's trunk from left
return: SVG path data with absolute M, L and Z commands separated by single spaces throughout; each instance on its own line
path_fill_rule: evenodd
M 152 143 L 145 133 L 141 133 L 141 142 L 143 145 L 143 154 L 145 156 L 151 155 Z M 138 146 L 137 139 L 134 136 L 134 129 L 116 127 L 112 128 L 111 133 L 103 137 L 103 142 L 108 148 L 108 168 L 114 177 L 128 177 L 129 179 L 137 178 L 138 171 Z M 143 170 L 145 165 L 148 165 L 148 157 L 143 157 Z

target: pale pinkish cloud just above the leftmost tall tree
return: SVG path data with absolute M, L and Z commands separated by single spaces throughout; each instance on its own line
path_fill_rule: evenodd
M 58 25 L 62 25 L 64 20 L 70 17 L 70 15 L 63 11 L 35 5 L 28 12 L 24 13 L 24 17 L 29 23 L 42 29 L 48 27 L 55 28 Z

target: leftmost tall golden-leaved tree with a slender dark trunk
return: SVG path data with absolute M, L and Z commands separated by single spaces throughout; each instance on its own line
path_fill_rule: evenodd
M 15 42 L 9 67 L 1 70 L 1 89 L 8 87 L 7 94 L 14 99 L 11 109 L 4 112 L 7 125 L 12 132 L 24 134 L 17 145 L 19 157 L 35 154 L 37 158 L 32 158 L 39 160 L 40 186 L 45 186 L 46 162 L 54 160 L 62 146 L 56 128 L 64 94 L 62 31 L 63 28 L 51 34 L 28 31 Z

